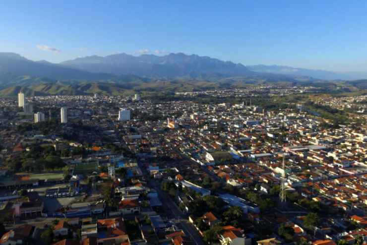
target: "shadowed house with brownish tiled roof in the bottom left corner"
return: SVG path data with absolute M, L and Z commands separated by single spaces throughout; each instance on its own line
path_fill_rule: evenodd
M 26 244 L 26 241 L 33 233 L 33 226 L 21 225 L 13 230 L 6 232 L 0 239 L 0 245 L 21 245 Z

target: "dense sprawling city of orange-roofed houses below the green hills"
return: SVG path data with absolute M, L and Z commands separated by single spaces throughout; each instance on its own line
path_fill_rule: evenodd
M 366 96 L 317 92 L 0 98 L 0 244 L 363 244 Z

